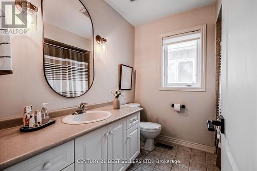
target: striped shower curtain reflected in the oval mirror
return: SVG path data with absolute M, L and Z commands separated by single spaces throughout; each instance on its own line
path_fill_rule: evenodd
M 44 44 L 45 76 L 50 86 L 65 97 L 88 90 L 88 54 Z

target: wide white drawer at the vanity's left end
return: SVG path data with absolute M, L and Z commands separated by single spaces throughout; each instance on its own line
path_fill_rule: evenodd
M 58 171 L 74 163 L 74 140 L 5 169 L 5 171 Z

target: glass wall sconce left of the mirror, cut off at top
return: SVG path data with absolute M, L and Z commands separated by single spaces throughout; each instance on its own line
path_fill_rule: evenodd
M 15 6 L 24 17 L 27 17 L 27 20 L 25 20 L 27 27 L 33 27 L 36 30 L 36 12 L 38 12 L 38 7 L 26 0 L 15 0 Z

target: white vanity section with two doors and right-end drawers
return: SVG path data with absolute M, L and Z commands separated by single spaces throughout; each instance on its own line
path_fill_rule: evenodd
M 127 129 L 127 123 L 134 126 Z M 135 159 L 139 153 L 140 126 L 137 112 L 75 139 L 75 170 L 123 171 L 129 166 L 124 161 Z M 83 159 L 96 163 L 81 164 Z

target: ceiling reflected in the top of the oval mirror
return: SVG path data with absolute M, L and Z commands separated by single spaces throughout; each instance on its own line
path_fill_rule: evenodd
M 82 9 L 84 9 L 84 13 L 80 12 Z M 43 17 L 46 23 L 88 40 L 92 39 L 91 20 L 84 6 L 78 0 L 44 0 Z

